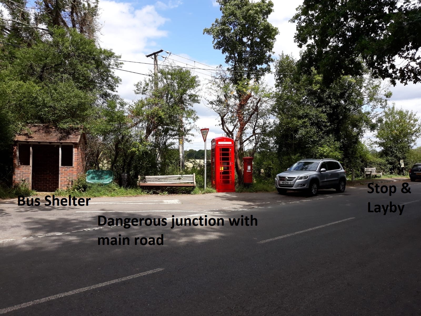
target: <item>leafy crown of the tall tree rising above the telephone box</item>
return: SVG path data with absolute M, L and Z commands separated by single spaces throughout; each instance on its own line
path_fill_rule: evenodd
M 272 1 L 217 0 L 222 16 L 203 34 L 213 37 L 213 48 L 226 54 L 230 79 L 238 89 L 244 78 L 258 81 L 270 71 L 271 53 L 278 29 L 267 21 Z M 264 67 L 261 67 L 261 66 Z M 246 72 L 244 72 L 246 71 Z

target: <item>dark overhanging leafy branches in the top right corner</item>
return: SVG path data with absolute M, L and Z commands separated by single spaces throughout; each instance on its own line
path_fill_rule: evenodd
M 300 67 L 332 83 L 364 74 L 361 61 L 393 85 L 421 81 L 419 0 L 304 0 L 291 19 L 295 41 L 306 46 Z M 395 64 L 395 58 L 403 62 Z M 398 62 L 399 63 L 399 62 Z

